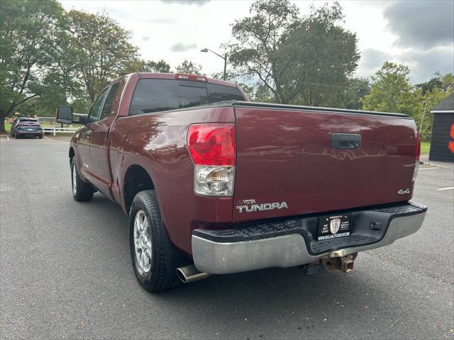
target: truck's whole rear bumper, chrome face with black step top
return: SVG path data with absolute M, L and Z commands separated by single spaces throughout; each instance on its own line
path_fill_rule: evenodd
M 292 267 L 342 257 L 392 244 L 421 228 L 427 207 L 406 203 L 354 210 L 348 237 L 316 240 L 319 217 L 256 222 L 228 230 L 195 229 L 192 256 L 204 273 L 228 274 L 262 268 Z M 371 229 L 371 222 L 375 228 Z M 382 228 L 376 229 L 377 222 Z

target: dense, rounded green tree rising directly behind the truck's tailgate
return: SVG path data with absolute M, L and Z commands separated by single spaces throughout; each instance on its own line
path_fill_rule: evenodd
M 360 54 L 355 33 L 338 26 L 341 5 L 311 8 L 292 25 L 282 40 L 283 61 L 290 65 L 281 76 L 287 101 L 309 106 L 344 106 L 345 89 L 358 67 Z

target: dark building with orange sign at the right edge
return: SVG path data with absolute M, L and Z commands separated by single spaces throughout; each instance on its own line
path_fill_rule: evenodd
M 431 109 L 433 114 L 431 161 L 454 162 L 454 94 Z

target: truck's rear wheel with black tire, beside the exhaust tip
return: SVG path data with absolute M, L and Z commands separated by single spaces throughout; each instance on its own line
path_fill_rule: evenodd
M 145 227 L 140 227 L 140 222 Z M 135 227 L 136 224 L 138 224 L 137 227 Z M 140 191 L 135 195 L 129 212 L 128 225 L 131 260 L 135 277 L 140 285 L 149 292 L 160 292 L 181 284 L 176 269 L 188 264 L 189 259 L 170 244 L 162 225 L 154 190 Z M 135 242 L 146 246 L 147 249 L 143 251 L 144 248 L 137 246 L 136 251 Z M 145 261 L 140 260 L 139 254 L 145 254 Z

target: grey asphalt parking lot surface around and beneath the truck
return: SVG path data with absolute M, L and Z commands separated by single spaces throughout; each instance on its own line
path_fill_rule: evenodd
M 136 282 L 126 216 L 72 199 L 69 138 L 0 138 L 1 339 L 454 339 L 453 164 L 423 166 L 421 230 L 353 273 L 211 276 L 160 294 Z

